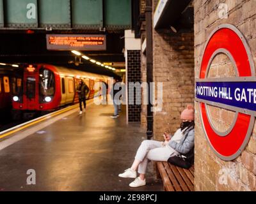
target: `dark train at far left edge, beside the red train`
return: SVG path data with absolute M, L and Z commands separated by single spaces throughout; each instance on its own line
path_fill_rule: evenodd
M 0 66 L 0 114 L 12 109 L 12 95 L 21 91 L 22 71 L 12 66 Z

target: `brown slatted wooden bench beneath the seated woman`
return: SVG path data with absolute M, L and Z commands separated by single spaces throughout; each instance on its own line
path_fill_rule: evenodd
M 164 191 L 194 191 L 194 166 L 189 170 L 168 162 L 156 163 L 157 178 L 163 180 Z

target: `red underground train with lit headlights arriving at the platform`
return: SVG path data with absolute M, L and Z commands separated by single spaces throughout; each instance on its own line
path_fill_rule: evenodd
M 89 87 L 86 99 L 93 98 L 96 82 L 108 83 L 107 76 L 68 69 L 51 64 L 33 64 L 24 67 L 22 89 L 13 94 L 13 114 L 56 110 L 79 101 L 77 87 L 83 79 Z

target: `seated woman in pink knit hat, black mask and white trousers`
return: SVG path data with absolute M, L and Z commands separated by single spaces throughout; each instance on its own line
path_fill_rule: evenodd
M 192 105 L 181 113 L 180 129 L 171 137 L 164 133 L 164 142 L 156 140 L 144 140 L 137 150 L 134 162 L 131 168 L 120 173 L 118 176 L 122 178 L 136 178 L 130 187 L 140 187 L 146 185 L 145 173 L 148 160 L 151 161 L 168 161 L 172 156 L 179 154 L 187 154 L 194 147 L 195 139 L 195 122 L 194 108 Z M 137 178 L 136 170 L 140 176 Z

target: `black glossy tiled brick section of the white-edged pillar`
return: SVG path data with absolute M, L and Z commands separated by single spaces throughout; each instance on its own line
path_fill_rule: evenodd
M 141 60 L 140 50 L 127 50 L 127 83 L 141 83 Z M 135 89 L 134 89 L 135 90 Z M 133 90 L 128 89 L 128 96 L 131 97 Z M 139 94 L 137 92 L 137 94 Z M 129 122 L 140 122 L 141 105 L 136 101 L 136 92 L 134 91 L 134 105 L 128 105 L 128 120 Z M 140 98 L 140 95 L 139 95 Z

